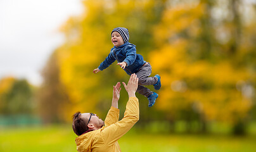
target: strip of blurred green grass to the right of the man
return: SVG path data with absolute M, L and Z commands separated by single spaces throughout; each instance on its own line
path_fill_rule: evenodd
M 120 139 L 123 151 L 256 151 L 256 137 L 128 134 Z

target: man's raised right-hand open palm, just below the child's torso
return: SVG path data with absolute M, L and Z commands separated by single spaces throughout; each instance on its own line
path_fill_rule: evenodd
M 122 82 L 124 84 L 124 88 L 127 91 L 129 97 L 136 97 L 135 96 L 135 92 L 138 89 L 138 77 L 135 73 L 133 73 L 129 79 L 128 84 L 126 85 L 124 82 Z

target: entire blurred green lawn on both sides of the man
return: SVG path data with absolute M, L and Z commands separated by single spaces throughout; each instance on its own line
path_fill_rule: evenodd
M 70 126 L 0 128 L 0 151 L 76 151 Z M 256 137 L 150 134 L 134 129 L 118 143 L 122 151 L 256 151 Z

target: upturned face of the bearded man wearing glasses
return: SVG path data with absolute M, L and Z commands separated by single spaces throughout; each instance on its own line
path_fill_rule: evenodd
M 80 114 L 80 117 L 85 118 L 87 121 L 89 120 L 90 116 L 91 116 L 91 120 L 89 121 L 89 124 L 93 124 L 95 129 L 100 129 L 101 127 L 103 127 L 105 122 L 101 120 L 101 118 L 99 118 L 96 114 L 95 115 L 91 115 L 91 113 Z

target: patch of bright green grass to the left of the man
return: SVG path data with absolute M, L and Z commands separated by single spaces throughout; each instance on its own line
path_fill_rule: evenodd
M 12 127 L 11 129 L 1 129 L 0 151 L 75 151 L 75 137 L 70 127 Z

